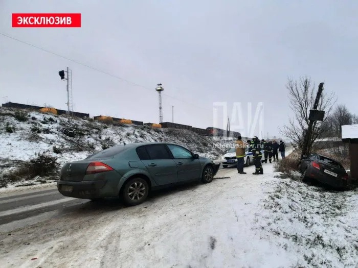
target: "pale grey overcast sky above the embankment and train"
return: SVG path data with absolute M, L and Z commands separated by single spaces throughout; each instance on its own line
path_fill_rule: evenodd
M 82 27 L 12 28 L 12 13 L 82 13 Z M 65 110 L 58 71 L 69 66 L 78 112 L 158 123 L 162 83 L 164 121 L 173 105 L 176 123 L 207 128 L 213 103 L 227 102 L 238 125 L 240 102 L 247 126 L 248 102 L 253 115 L 263 102 L 263 134 L 280 136 L 292 115 L 287 77 L 325 82 L 358 113 L 357 14 L 354 0 L 0 0 L 0 33 L 113 75 L 0 35 L 0 97 Z

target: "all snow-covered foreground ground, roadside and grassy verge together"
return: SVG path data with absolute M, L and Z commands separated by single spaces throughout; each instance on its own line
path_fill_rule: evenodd
M 0 234 L 1 267 L 356 267 L 356 191 L 219 170 L 136 207 L 85 203 Z M 37 257 L 37 260 L 31 258 Z

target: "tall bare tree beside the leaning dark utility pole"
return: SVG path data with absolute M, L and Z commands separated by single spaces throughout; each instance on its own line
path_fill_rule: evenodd
M 293 118 L 289 118 L 289 123 L 279 130 L 282 135 L 290 138 L 299 149 L 302 149 L 305 132 L 309 125 L 309 110 L 314 107 L 318 89 L 315 89 L 315 84 L 309 77 L 301 77 L 299 81 L 288 79 L 286 88 L 289 94 L 290 108 L 295 115 Z M 329 116 L 336 101 L 337 98 L 335 98 L 334 93 L 326 94 L 322 92 L 318 110 L 325 111 L 325 119 Z M 314 123 L 312 135 L 308 142 L 308 154 L 315 150 L 314 143 L 324 132 L 322 126 L 325 124 L 325 119 Z

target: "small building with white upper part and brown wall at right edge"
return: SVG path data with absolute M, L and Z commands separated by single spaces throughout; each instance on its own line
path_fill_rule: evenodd
M 342 126 L 342 141 L 349 145 L 350 177 L 358 179 L 358 124 Z

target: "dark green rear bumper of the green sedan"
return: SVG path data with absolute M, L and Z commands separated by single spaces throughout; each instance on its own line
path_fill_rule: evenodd
M 66 197 L 95 199 L 102 198 L 101 189 L 106 185 L 107 180 L 100 181 L 58 181 L 58 191 Z M 69 187 L 68 187 L 69 186 Z M 65 188 L 69 188 L 66 190 Z

